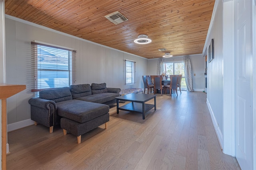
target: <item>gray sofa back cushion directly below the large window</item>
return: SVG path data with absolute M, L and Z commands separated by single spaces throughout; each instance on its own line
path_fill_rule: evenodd
M 52 100 L 55 103 L 72 100 L 72 95 L 68 87 L 42 90 L 39 92 L 39 98 Z

